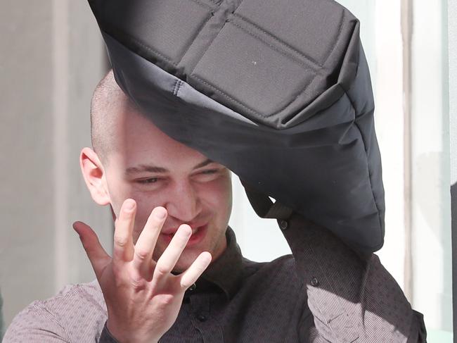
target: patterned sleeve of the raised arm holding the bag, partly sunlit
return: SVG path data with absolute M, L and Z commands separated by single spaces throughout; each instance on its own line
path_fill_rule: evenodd
M 300 216 L 280 226 L 314 316 L 315 327 L 302 342 L 426 342 L 423 316 L 413 311 L 378 256 L 360 257 Z

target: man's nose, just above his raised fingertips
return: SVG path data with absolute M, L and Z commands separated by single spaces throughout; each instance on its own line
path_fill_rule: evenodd
M 191 182 L 176 183 L 168 194 L 169 199 L 165 208 L 168 215 L 183 223 L 191 222 L 202 211 L 198 190 Z

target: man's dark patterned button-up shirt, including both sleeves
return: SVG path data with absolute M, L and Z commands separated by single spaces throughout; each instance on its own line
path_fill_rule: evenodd
M 422 315 L 377 256 L 359 257 L 300 216 L 281 226 L 293 256 L 269 263 L 243 258 L 228 228 L 226 251 L 188 289 L 176 322 L 159 342 L 425 342 Z M 104 325 L 103 294 L 94 285 L 32 304 L 32 311 L 13 321 L 4 342 L 116 342 Z M 73 310 L 72 302 L 78 303 Z M 53 318 L 58 340 L 32 339 L 39 330 L 51 330 L 30 324 L 37 308 Z M 81 311 L 91 319 L 77 320 Z

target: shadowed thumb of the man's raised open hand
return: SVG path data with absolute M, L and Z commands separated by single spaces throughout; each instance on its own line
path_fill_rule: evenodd
M 91 261 L 97 279 L 100 280 L 100 275 L 103 269 L 110 263 L 111 257 L 103 249 L 96 233 L 89 225 L 82 222 L 75 222 L 73 223 L 73 228 L 81 239 L 82 246 L 86 251 L 87 257 L 89 257 L 89 261 Z

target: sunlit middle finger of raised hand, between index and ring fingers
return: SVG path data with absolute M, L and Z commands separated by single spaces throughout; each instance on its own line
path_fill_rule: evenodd
M 153 252 L 155 244 L 157 243 L 157 237 L 160 235 L 162 225 L 165 223 L 167 218 L 167 210 L 163 207 L 156 207 L 150 213 L 148 221 L 141 232 L 139 239 L 135 244 L 134 254 L 134 268 L 139 270 L 140 275 L 145 278 L 152 277 L 151 261 L 153 259 Z

